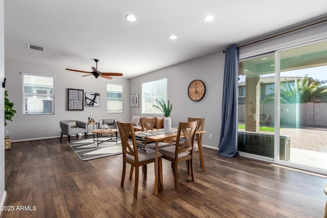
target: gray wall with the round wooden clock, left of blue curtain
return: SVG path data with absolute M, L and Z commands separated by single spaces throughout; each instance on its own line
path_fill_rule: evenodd
M 140 94 L 139 102 L 141 103 L 141 84 L 167 76 L 168 100 L 173 104 L 173 110 L 170 116 L 172 126 L 177 127 L 178 122 L 185 122 L 188 117 L 205 117 L 204 129 L 207 132 L 203 136 L 203 144 L 208 147 L 218 148 L 224 62 L 225 55 L 221 51 L 160 69 L 131 79 L 130 92 L 131 94 Z M 196 79 L 202 80 L 206 87 L 205 95 L 199 102 L 192 101 L 188 95 L 188 87 Z M 141 115 L 141 112 L 142 105 L 138 108 L 131 108 L 130 118 Z M 212 134 L 212 139 L 209 139 L 209 134 Z

